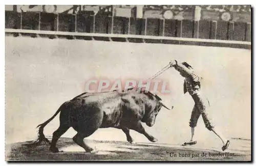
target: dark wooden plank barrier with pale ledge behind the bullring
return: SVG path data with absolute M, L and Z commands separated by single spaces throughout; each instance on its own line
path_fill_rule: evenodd
M 94 36 L 107 38 L 142 39 L 199 42 L 191 39 L 202 40 L 204 43 L 229 43 L 249 45 L 251 41 L 251 23 L 246 22 L 226 22 L 226 21 L 193 21 L 193 20 L 172 20 L 155 18 L 126 18 L 110 16 L 91 16 L 80 14 L 53 14 L 42 12 L 17 13 L 6 11 L 6 32 L 22 33 L 29 31 L 32 36 L 41 34 L 63 35 L 62 32 L 74 32 L 66 34 L 68 37 Z M 11 29 L 15 30 L 11 31 Z M 18 31 L 19 30 L 19 31 Z M 41 32 L 39 32 L 41 31 Z M 36 33 L 35 33 L 36 32 Z M 83 33 L 84 35 L 81 35 Z M 91 34 L 91 35 L 88 35 Z M 95 34 L 104 34 L 95 35 Z M 112 34 L 109 36 L 109 34 Z M 117 34 L 119 36 L 116 36 Z M 113 36 L 114 35 L 114 36 Z M 127 36 L 130 35 L 130 36 Z M 143 36 L 143 37 L 142 37 Z M 34 36 L 35 37 L 35 36 Z M 150 38 L 148 38 L 150 37 Z M 158 37 L 157 39 L 155 37 Z M 210 40 L 209 40 L 210 39 Z M 126 40 L 127 41 L 127 40 Z M 225 42 L 228 41 L 228 42 Z M 235 41 L 239 41 L 236 43 Z M 180 43 L 180 42 L 179 42 Z

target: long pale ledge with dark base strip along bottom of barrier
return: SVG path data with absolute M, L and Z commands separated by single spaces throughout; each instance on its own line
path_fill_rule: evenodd
M 122 34 L 92 34 L 92 33 L 72 33 L 72 32 L 53 32 L 53 31 L 35 31 L 35 30 L 14 30 L 6 29 L 6 34 L 26 34 L 33 36 L 56 36 L 56 37 L 73 37 L 71 39 L 83 40 L 100 40 L 100 41 L 129 41 L 136 43 L 163 43 L 163 44 L 183 44 L 199 46 L 216 46 L 251 49 L 251 42 L 213 40 L 213 39 L 195 39 L 195 38 L 178 38 L 162 36 L 144 36 L 144 35 L 122 35 Z

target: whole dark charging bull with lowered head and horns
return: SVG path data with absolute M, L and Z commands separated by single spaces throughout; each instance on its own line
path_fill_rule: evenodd
M 90 153 L 95 150 L 83 140 L 98 128 L 122 129 L 126 134 L 126 140 L 130 143 L 134 141 L 130 135 L 130 129 L 145 135 L 149 141 L 156 142 L 157 139 L 145 131 L 142 122 L 152 127 L 162 106 L 169 109 L 161 102 L 160 97 L 146 91 L 83 93 L 64 102 L 49 120 L 37 126 L 39 127 L 38 139 L 33 145 L 47 142 L 50 144 L 50 151 L 59 152 L 56 142 L 70 127 L 77 131 L 73 141 Z M 60 113 L 60 124 L 53 132 L 50 143 L 44 135 L 44 127 L 58 113 Z

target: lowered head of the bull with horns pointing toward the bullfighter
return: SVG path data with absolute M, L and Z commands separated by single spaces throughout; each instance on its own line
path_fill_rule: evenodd
M 148 104 L 145 107 L 145 115 L 141 121 L 145 122 L 147 126 L 152 127 L 155 124 L 156 117 L 160 112 L 160 109 L 162 108 L 162 106 L 168 110 L 170 109 L 161 102 L 162 99 L 157 95 L 153 95 L 150 92 L 145 93 L 145 95 L 148 96 L 148 99 L 149 99 L 148 102 L 150 104 Z

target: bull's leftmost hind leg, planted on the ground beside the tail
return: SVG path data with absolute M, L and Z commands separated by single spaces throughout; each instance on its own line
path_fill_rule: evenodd
M 59 137 L 62 134 L 64 134 L 69 128 L 70 128 L 69 125 L 60 125 L 59 128 L 53 132 L 50 151 L 52 151 L 54 153 L 59 152 L 58 148 L 56 147 L 56 143 L 57 143 Z

